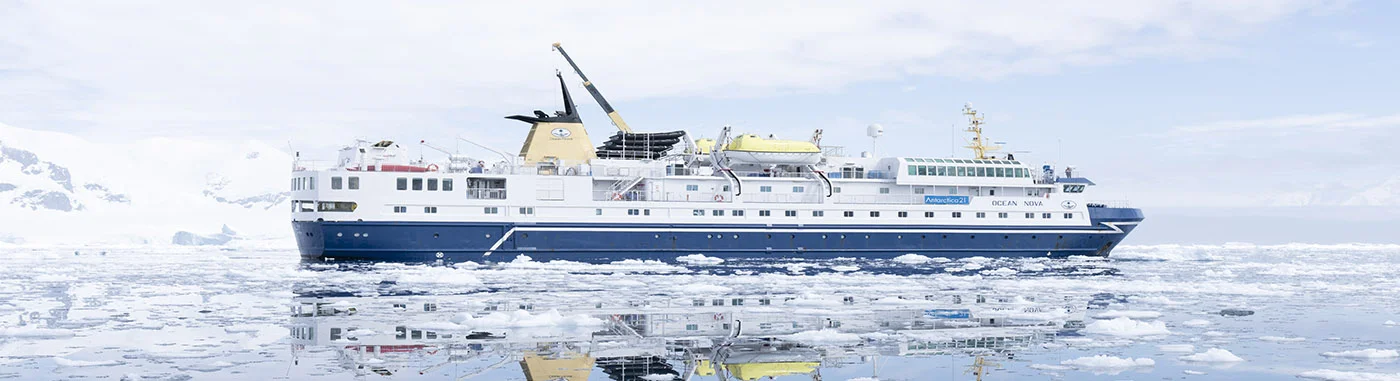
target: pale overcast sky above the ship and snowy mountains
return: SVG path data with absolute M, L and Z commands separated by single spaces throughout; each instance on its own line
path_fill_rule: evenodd
M 563 42 L 638 130 L 862 151 L 882 123 L 881 154 L 946 155 L 970 101 L 1021 157 L 1135 205 L 1400 179 L 1396 1 L 463 3 L 0 0 L 0 123 L 514 151 L 528 125 L 501 116 L 561 109 L 560 69 L 601 140 Z

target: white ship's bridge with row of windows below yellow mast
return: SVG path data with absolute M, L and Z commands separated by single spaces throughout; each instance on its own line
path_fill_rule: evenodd
M 896 183 L 907 185 L 1035 185 L 1036 172 L 1016 160 L 886 158 L 879 167 L 896 167 Z

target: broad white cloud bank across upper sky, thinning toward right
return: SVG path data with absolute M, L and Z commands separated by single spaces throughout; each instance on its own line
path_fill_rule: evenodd
M 0 6 L 0 83 L 34 120 L 323 134 L 553 99 L 563 41 L 615 101 L 770 97 L 1200 57 L 1319 1 L 214 3 Z M 570 80 L 577 83 L 577 80 Z M 53 95 L 60 94 L 60 95 Z M 575 94 L 582 95 L 582 94 Z M 587 98 L 580 97 L 587 105 Z M 42 126 L 39 126 L 42 127 Z

